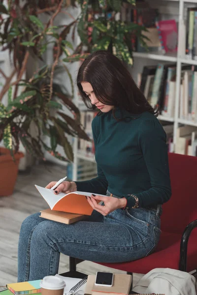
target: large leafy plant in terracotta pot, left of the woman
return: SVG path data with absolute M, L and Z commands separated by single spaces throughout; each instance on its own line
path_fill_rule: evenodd
M 62 10 L 66 12 L 67 3 L 63 0 L 49 0 L 45 1 L 43 6 L 42 1 L 19 3 L 16 0 L 8 1 L 6 7 L 3 5 L 4 2 L 7 3 L 7 1 L 0 3 L 2 28 L 0 45 L 2 51 L 9 50 L 14 66 L 10 76 L 5 75 L 0 69 L 0 74 L 4 78 L 0 91 L 0 142 L 2 141 L 4 145 L 0 153 L 0 175 L 3 176 L 5 165 L 8 169 L 3 159 L 12 157 L 12 164 L 15 166 L 6 172 L 6 178 L 8 175 L 10 178 L 14 172 L 13 178 L 16 179 L 17 164 L 19 157 L 22 156 L 18 152 L 20 143 L 38 160 L 44 160 L 44 152 L 47 150 L 60 160 L 72 162 L 72 147 L 66 134 L 85 140 L 89 140 L 89 137 L 80 124 L 80 112 L 72 102 L 71 75 L 66 63 L 60 59 L 63 53 L 65 55 L 70 55 L 70 51 L 73 54 L 77 53 L 71 42 L 66 40 L 76 20 L 69 16 L 71 18 L 69 25 L 54 26 L 53 24 L 58 13 Z M 38 18 L 42 13 L 50 14 L 46 24 Z M 53 44 L 52 64 L 38 66 L 32 75 L 29 77 L 25 75 L 31 56 L 35 62 L 40 60 L 42 64 L 45 63 L 44 52 L 51 43 Z M 85 55 L 79 55 L 78 60 L 84 57 Z M 72 85 L 71 93 L 67 92 L 66 87 L 63 88 L 54 83 L 54 76 L 60 66 L 68 75 Z M 22 88 L 22 91 L 19 92 L 19 88 Z M 5 95 L 7 100 L 2 103 Z M 69 110 L 69 114 L 63 111 L 64 105 Z M 33 133 L 30 132 L 31 125 L 34 127 Z M 50 145 L 44 142 L 43 135 L 50 138 Z M 57 145 L 64 148 L 66 156 L 57 151 Z M 5 186 L 6 191 L 0 189 L 0 195 L 11 194 L 13 191 L 13 187 L 8 190 L 10 182 Z

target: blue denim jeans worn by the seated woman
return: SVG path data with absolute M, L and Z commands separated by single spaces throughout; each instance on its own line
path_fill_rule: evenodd
M 104 217 L 93 211 L 88 220 L 69 225 L 39 215 L 27 217 L 21 226 L 18 282 L 58 273 L 60 253 L 108 263 L 142 258 L 154 251 L 161 234 L 160 205 L 117 209 Z

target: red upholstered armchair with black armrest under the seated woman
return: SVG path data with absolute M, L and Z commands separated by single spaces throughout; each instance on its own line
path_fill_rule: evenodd
M 162 234 L 151 255 L 125 263 L 100 263 L 128 273 L 147 273 L 156 267 L 197 269 L 197 157 L 169 153 L 172 196 L 163 205 Z M 70 257 L 70 271 L 77 260 Z

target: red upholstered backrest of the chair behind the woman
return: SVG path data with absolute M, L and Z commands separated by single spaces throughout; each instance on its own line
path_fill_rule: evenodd
M 164 203 L 161 229 L 182 234 L 197 219 L 197 157 L 168 153 L 172 196 Z

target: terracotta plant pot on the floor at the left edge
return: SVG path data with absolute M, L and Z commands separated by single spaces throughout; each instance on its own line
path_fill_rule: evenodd
M 18 176 L 19 160 L 24 157 L 24 154 L 17 152 L 14 157 L 15 162 L 7 148 L 0 148 L 0 196 L 9 196 L 13 193 Z

